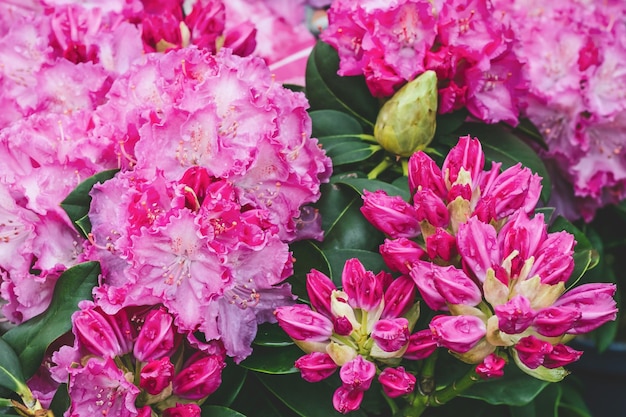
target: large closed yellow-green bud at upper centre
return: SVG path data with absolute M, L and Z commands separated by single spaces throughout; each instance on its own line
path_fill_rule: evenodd
M 403 86 L 378 113 L 374 137 L 385 150 L 409 157 L 435 135 L 437 75 L 426 71 Z

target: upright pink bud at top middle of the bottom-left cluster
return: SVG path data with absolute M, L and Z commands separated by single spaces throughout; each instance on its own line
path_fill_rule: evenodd
M 174 318 L 165 308 L 152 310 L 146 316 L 133 348 L 133 354 L 143 362 L 169 356 L 176 349 Z

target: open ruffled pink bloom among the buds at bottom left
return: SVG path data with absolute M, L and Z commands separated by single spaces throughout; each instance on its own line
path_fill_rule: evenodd
M 68 390 L 72 402 L 66 415 L 137 415 L 139 388 L 128 382 L 113 359 L 92 357 L 80 368 L 70 368 Z

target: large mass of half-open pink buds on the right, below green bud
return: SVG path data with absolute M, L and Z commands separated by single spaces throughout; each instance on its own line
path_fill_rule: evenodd
M 388 266 L 445 312 L 429 324 L 437 346 L 479 364 L 482 376 L 501 375 L 498 358 L 508 350 L 526 372 L 559 380 L 562 366 L 581 354 L 564 343 L 615 319 L 615 286 L 566 292 L 575 241 L 548 233 L 543 214 L 532 216 L 540 178 L 519 165 L 500 172 L 500 164 L 488 171 L 483 164 L 480 142 L 470 137 L 460 138 L 441 170 L 418 152 L 409 161 L 412 204 L 365 192 L 363 214 L 391 238 L 381 246 Z

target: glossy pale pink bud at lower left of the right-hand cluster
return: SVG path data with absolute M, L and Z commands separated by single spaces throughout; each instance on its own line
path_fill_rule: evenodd
M 485 323 L 475 316 L 436 316 L 430 329 L 439 346 L 456 353 L 465 353 L 487 333 Z

